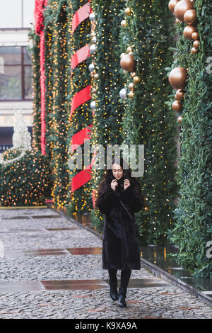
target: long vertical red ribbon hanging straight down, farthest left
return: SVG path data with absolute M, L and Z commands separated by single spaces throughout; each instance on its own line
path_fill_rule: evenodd
M 41 119 L 41 135 L 40 135 L 40 145 L 41 153 L 43 155 L 45 152 L 45 133 L 46 133 L 46 123 L 45 123 L 45 33 L 44 28 L 44 16 L 43 11 L 45 6 L 47 6 L 48 0 L 35 0 L 35 33 L 40 35 L 40 119 Z

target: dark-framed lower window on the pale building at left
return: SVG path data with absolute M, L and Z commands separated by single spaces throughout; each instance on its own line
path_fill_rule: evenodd
M 32 66 L 27 47 L 0 47 L 0 101 L 32 99 Z

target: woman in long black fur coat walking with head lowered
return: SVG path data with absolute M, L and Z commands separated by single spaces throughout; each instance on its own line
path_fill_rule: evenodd
M 124 204 L 124 206 L 122 205 Z M 131 269 L 141 269 L 139 244 L 136 237 L 134 213 L 144 208 L 139 181 L 131 177 L 131 169 L 120 157 L 112 160 L 112 169 L 100 182 L 96 205 L 105 214 L 102 241 L 102 268 L 109 273 L 110 297 L 126 307 L 126 288 Z M 117 270 L 121 286 L 117 292 Z

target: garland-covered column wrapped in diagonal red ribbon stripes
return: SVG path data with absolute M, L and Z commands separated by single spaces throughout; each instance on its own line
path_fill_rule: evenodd
M 69 204 L 70 215 L 76 217 L 90 207 L 91 166 L 84 165 L 84 140 L 90 139 L 93 115 L 90 112 L 90 1 L 72 1 L 71 23 L 71 108 L 69 130 Z M 78 152 L 78 148 L 81 152 Z M 75 166 L 80 154 L 81 166 Z

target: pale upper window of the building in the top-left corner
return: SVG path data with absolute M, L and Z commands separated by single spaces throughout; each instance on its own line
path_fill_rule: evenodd
M 30 28 L 35 0 L 1 0 L 0 28 Z

